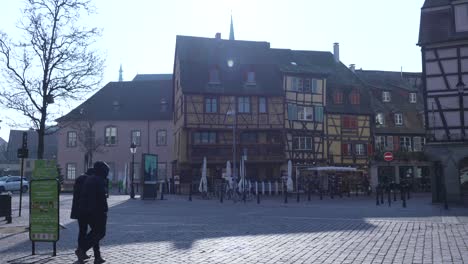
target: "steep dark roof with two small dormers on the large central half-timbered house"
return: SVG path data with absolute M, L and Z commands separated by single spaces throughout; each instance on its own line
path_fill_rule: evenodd
M 269 56 L 267 42 L 177 36 L 176 59 L 184 93 L 282 94 L 281 76 Z M 228 60 L 233 61 L 229 67 Z M 209 83 L 210 70 L 219 69 L 219 84 Z M 255 71 L 256 85 L 245 84 Z

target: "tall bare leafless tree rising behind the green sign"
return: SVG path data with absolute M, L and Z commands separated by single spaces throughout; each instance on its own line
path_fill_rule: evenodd
M 104 60 L 93 44 L 97 28 L 80 27 L 81 16 L 94 11 L 90 0 L 27 0 L 13 41 L 0 32 L 0 62 L 5 87 L 0 103 L 22 113 L 38 133 L 37 157 L 44 155 L 44 135 L 53 122 L 52 105 L 97 88 Z

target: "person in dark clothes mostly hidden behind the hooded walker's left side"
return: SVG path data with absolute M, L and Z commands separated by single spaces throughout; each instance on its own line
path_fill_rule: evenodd
M 78 248 L 83 245 L 83 240 L 88 233 L 88 223 L 86 219 L 81 216 L 80 208 L 79 208 L 79 198 L 82 192 L 83 184 L 86 181 L 86 177 L 94 175 L 94 169 L 89 168 L 85 174 L 79 176 L 75 180 L 75 184 L 73 185 L 73 201 L 72 201 L 72 209 L 70 218 L 76 219 L 78 221 Z M 99 254 L 99 245 L 93 247 L 94 255 Z M 85 259 L 89 259 L 90 256 L 86 255 Z

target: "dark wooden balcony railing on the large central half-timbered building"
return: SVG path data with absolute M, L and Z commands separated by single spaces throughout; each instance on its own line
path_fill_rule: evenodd
M 237 158 L 244 152 L 247 153 L 248 161 L 278 161 L 283 160 L 284 147 L 281 144 L 239 144 L 236 147 Z M 200 162 L 203 157 L 213 162 L 232 161 L 232 145 L 192 145 L 190 158 L 192 162 Z

